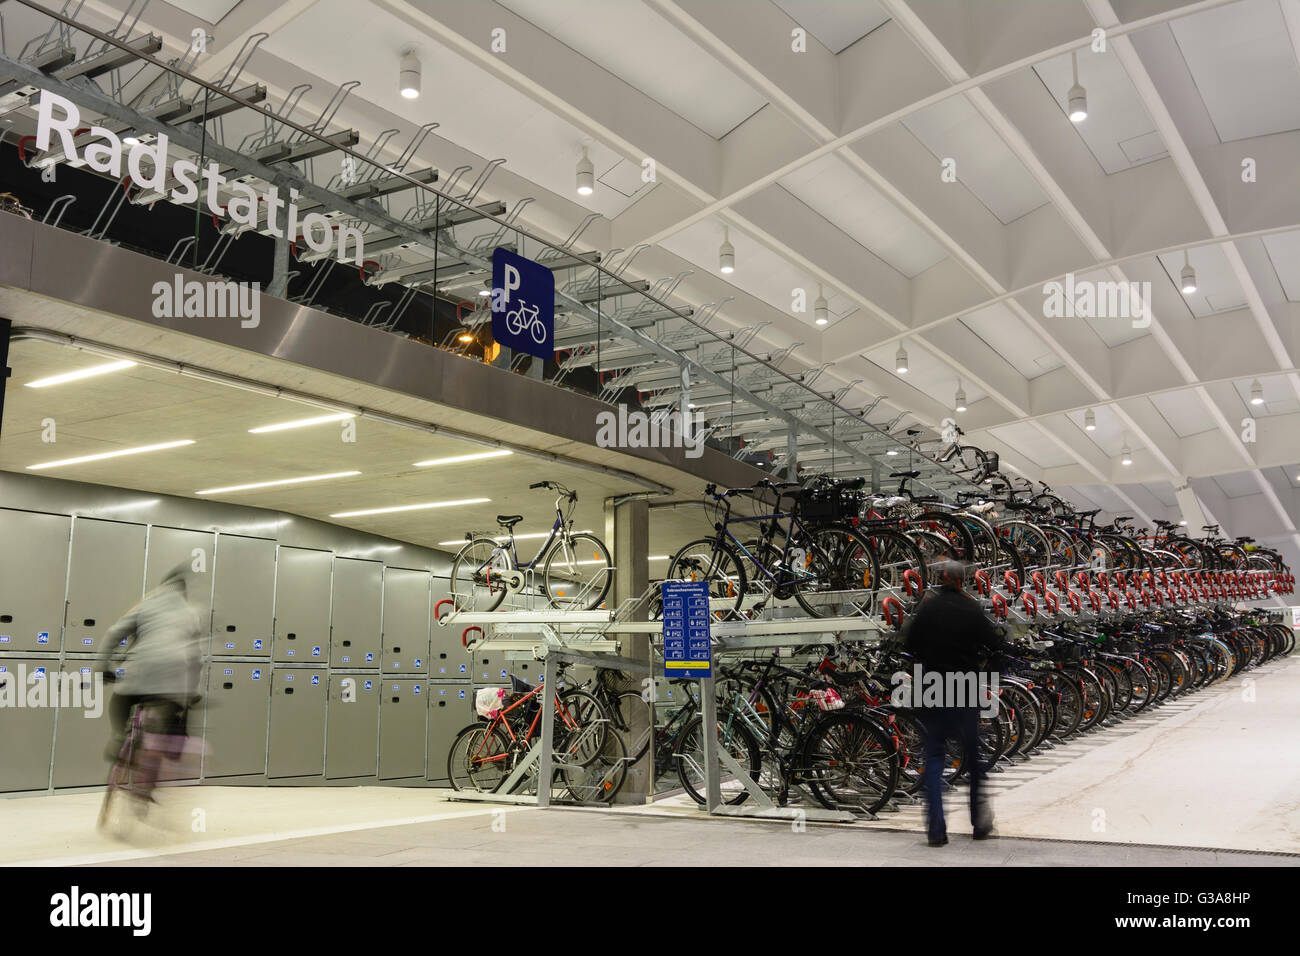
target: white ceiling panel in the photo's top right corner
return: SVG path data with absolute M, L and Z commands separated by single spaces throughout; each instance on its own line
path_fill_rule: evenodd
M 1170 22 L 1225 143 L 1300 129 L 1300 66 L 1277 0 L 1243 0 Z

